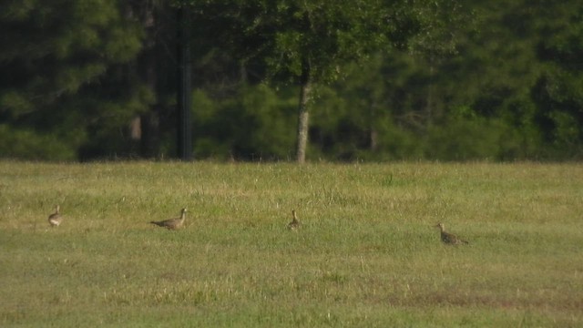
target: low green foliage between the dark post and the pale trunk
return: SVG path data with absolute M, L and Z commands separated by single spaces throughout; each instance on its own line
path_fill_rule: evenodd
M 294 98 L 267 85 L 243 87 L 237 97 L 193 97 L 194 152 L 200 158 L 286 159 L 293 148 Z

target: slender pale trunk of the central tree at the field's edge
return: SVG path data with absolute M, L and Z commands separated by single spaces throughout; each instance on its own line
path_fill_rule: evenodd
M 298 107 L 298 134 L 296 160 L 302 164 L 306 160 L 306 146 L 308 144 L 308 128 L 310 127 L 310 112 L 308 105 L 312 97 L 311 67 L 308 61 L 302 65 L 300 78 L 300 104 Z

